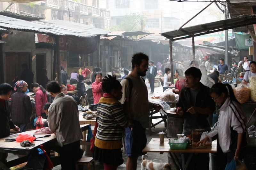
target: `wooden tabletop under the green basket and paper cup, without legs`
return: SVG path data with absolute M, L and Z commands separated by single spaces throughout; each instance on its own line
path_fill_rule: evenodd
M 208 145 L 204 149 L 196 149 L 196 143 L 188 144 L 186 149 L 170 149 L 168 139 L 164 139 L 164 142 L 160 142 L 159 138 L 153 138 L 148 145 L 142 150 L 142 152 L 183 152 L 183 153 L 216 153 L 217 152 L 217 140 L 212 142 L 212 145 Z

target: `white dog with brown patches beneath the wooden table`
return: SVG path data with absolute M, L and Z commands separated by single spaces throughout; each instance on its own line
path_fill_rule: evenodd
M 148 155 L 142 155 L 141 159 L 143 160 L 140 167 L 141 170 L 171 170 L 171 164 L 165 164 L 165 163 L 157 163 L 157 162 L 152 162 L 148 159 Z

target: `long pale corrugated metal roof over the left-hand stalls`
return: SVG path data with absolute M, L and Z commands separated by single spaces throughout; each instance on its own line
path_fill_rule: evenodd
M 111 32 L 94 26 L 69 21 L 25 21 L 3 15 L 0 15 L 0 27 L 48 35 L 71 35 L 77 37 L 90 37 L 96 35 L 108 36 L 108 33 Z

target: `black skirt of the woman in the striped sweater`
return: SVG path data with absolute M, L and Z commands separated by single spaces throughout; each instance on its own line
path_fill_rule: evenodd
M 94 146 L 92 158 L 113 166 L 123 164 L 121 149 L 100 149 L 97 146 Z

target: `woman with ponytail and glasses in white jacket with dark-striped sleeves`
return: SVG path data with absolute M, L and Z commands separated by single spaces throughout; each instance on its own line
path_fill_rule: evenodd
M 236 100 L 233 89 L 229 84 L 216 83 L 210 89 L 210 95 L 220 105 L 220 115 L 213 130 L 196 145 L 205 145 L 207 141 L 218 139 L 222 152 L 227 153 L 228 163 L 233 158 L 243 160 L 244 147 L 250 143 L 250 138 L 246 115 Z

